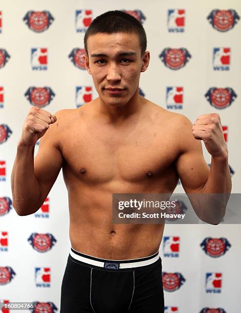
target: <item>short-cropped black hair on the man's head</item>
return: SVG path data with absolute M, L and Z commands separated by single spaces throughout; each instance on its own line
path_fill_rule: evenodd
M 87 39 L 89 36 L 97 33 L 113 34 L 119 32 L 137 34 L 143 55 L 147 49 L 147 36 L 144 27 L 134 16 L 119 10 L 105 12 L 93 19 L 84 37 L 86 53 L 88 54 Z

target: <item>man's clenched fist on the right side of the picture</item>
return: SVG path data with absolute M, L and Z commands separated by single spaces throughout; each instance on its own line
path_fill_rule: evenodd
M 228 149 L 224 140 L 224 133 L 220 116 L 216 113 L 198 116 L 192 126 L 193 137 L 203 140 L 208 152 L 213 157 L 227 157 Z

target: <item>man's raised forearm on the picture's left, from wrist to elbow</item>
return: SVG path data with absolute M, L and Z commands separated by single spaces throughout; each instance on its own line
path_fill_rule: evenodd
M 11 174 L 13 207 L 18 215 L 33 213 L 40 198 L 33 160 L 34 146 L 28 147 L 18 144 Z

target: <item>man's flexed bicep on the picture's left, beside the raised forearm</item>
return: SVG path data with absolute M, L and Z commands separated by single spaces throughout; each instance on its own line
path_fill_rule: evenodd
M 54 123 L 40 139 L 34 158 L 34 173 L 40 188 L 39 207 L 44 203 L 63 165 L 63 156 L 57 146 L 56 136 Z

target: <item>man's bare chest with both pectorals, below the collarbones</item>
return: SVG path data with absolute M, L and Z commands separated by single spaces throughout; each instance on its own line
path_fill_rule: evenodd
M 178 151 L 172 133 L 154 127 L 119 133 L 86 127 L 62 139 L 66 168 L 80 180 L 93 183 L 159 178 L 173 166 Z

